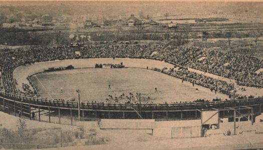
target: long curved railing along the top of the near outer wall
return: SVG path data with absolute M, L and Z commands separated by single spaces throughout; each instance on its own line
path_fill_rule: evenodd
M 45 98 L 26 97 L 0 91 L 0 96 L 15 101 L 25 103 L 45 105 L 51 107 L 78 108 L 78 101 L 51 100 Z M 94 110 L 183 110 L 183 109 L 207 109 L 220 107 L 249 106 L 263 103 L 263 97 L 248 99 L 232 99 L 226 101 L 205 101 L 205 102 L 185 102 L 185 103 L 104 103 L 104 102 L 81 102 L 81 109 Z

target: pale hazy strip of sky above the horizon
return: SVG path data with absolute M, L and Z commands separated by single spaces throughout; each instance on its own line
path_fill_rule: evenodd
M 132 12 L 240 12 L 261 10 L 263 2 L 191 2 L 191 1 L 0 1 L 0 5 L 32 6 L 58 5 L 71 6 L 74 11 L 88 9 L 102 13 L 132 13 Z

